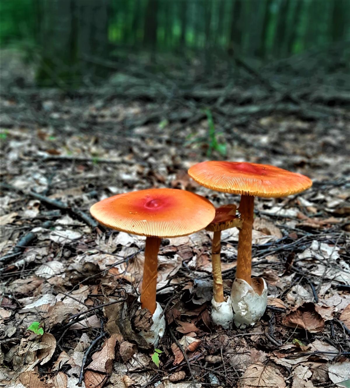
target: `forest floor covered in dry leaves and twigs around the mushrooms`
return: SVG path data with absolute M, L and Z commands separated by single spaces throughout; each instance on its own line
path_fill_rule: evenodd
M 241 126 L 227 119 L 231 130 L 216 137 L 226 159 L 299 172 L 313 186 L 255 200 L 252 268 L 268 283 L 268 308 L 254 327 L 211 322 L 211 232 L 162 241 L 157 300 L 167 329 L 157 366 L 133 319 L 145 238 L 105 229 L 89 208 L 150 187 L 190 190 L 215 206 L 239 196 L 186 173 L 207 159 L 201 111 L 192 122 L 184 106 L 171 111 L 179 120 L 154 120 L 165 108 L 145 99 L 73 97 L 1 101 L 0 385 L 348 387 L 350 121 L 264 111 Z M 235 228 L 222 234 L 226 294 L 237 240 Z

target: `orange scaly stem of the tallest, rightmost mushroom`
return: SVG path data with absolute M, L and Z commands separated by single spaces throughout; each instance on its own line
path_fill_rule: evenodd
M 238 237 L 236 278 L 251 284 L 252 275 L 252 229 L 254 217 L 254 197 L 242 195 L 239 211 L 243 220 Z

